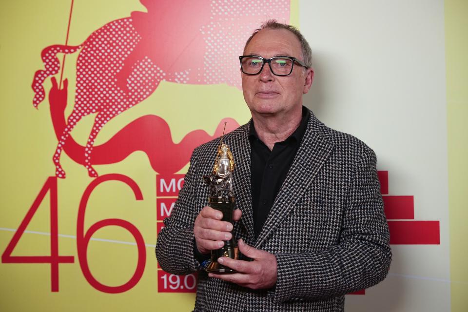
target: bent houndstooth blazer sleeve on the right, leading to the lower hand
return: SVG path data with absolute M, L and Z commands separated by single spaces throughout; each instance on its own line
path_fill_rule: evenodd
M 390 267 L 390 234 L 383 210 L 374 152 L 356 164 L 337 245 L 313 253 L 275 254 L 273 301 L 344 295 L 382 281 Z

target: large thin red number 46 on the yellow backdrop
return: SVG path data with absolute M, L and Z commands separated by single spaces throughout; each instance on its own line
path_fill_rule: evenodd
M 109 180 L 118 180 L 124 182 L 133 190 L 137 200 L 142 200 L 143 196 L 138 188 L 137 183 L 129 178 L 128 176 L 111 174 L 99 176 L 94 179 L 84 191 L 81 201 L 79 203 L 78 218 L 77 218 L 77 248 L 78 248 L 78 260 L 86 280 L 101 292 L 117 293 L 125 292 L 134 287 L 143 275 L 144 266 L 146 262 L 146 250 L 143 236 L 137 230 L 137 228 L 130 222 L 122 219 L 104 219 L 93 224 L 86 233 L 84 233 L 84 214 L 86 211 L 86 204 L 89 196 L 93 190 L 102 182 Z M 50 255 L 47 256 L 13 256 L 11 253 L 15 249 L 21 235 L 26 230 L 29 222 L 39 208 L 39 204 L 44 199 L 47 192 L 50 191 Z M 99 283 L 94 276 L 91 274 L 88 266 L 87 249 L 88 243 L 91 236 L 98 231 L 100 228 L 105 226 L 118 226 L 129 231 L 137 242 L 138 249 L 138 262 L 137 268 L 134 275 L 128 282 L 120 286 L 107 286 Z M 58 229 L 58 195 L 57 195 L 57 177 L 49 177 L 42 189 L 39 191 L 39 195 L 34 200 L 31 208 L 29 208 L 24 219 L 21 221 L 18 230 L 13 235 L 10 243 L 6 247 L 5 251 L 1 255 L 1 262 L 3 263 L 50 263 L 51 265 L 51 289 L 52 292 L 59 291 L 59 263 L 74 263 L 75 259 L 73 256 L 60 256 L 59 255 L 59 229 Z

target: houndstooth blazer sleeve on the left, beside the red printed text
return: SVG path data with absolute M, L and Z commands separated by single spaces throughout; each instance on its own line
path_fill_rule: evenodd
M 190 158 L 189 171 L 179 191 L 171 216 L 164 219 L 164 228 L 157 236 L 156 258 L 161 268 L 172 274 L 189 274 L 201 269 L 194 255 L 194 223 L 202 207 L 196 207 L 197 150 Z

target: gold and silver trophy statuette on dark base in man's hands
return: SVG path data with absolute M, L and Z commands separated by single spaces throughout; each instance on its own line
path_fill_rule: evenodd
M 225 125 L 226 127 L 226 125 Z M 224 135 L 224 133 L 223 133 Z M 233 223 L 235 196 L 233 193 L 234 158 L 229 147 L 223 143 L 223 137 L 218 146 L 213 172 L 209 176 L 203 176 L 205 182 L 210 185 L 208 203 L 213 209 L 223 213 L 222 221 Z M 238 259 L 239 251 L 234 237 L 224 242 L 224 246 L 211 251 L 211 263 L 205 268 L 210 273 L 234 273 L 235 270 L 225 267 L 217 262 L 219 257 Z

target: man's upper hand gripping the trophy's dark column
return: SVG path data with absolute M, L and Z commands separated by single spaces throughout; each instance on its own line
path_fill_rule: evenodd
M 234 210 L 233 221 L 240 220 L 242 212 Z M 194 234 L 196 248 L 201 254 L 209 254 L 210 251 L 224 246 L 224 241 L 233 237 L 231 231 L 233 225 L 226 221 L 221 221 L 223 214 L 209 206 L 203 207 L 196 216 Z

